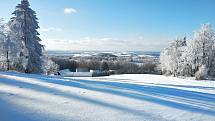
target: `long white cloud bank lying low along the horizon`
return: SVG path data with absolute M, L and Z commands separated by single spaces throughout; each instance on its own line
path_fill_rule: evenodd
M 167 39 L 125 40 L 117 38 L 91 38 L 80 40 L 43 39 L 47 50 L 100 50 L 100 51 L 160 51 L 167 46 Z

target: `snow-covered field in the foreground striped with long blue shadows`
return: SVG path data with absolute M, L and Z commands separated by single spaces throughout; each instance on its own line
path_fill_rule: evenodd
M 0 121 L 215 121 L 215 82 L 2 72 Z

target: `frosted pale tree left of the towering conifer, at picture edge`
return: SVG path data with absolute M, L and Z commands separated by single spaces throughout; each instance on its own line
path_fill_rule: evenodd
M 1 70 L 16 70 L 24 72 L 24 58 L 20 55 L 24 53 L 23 43 L 17 41 L 10 31 L 8 24 L 0 25 L 0 68 Z M 24 55 L 24 54 L 22 54 Z

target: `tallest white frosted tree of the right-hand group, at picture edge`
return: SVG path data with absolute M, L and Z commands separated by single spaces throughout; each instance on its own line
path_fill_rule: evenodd
M 212 68 L 213 47 L 215 44 L 215 33 L 210 24 L 203 24 L 201 28 L 195 32 L 191 42 L 190 49 L 193 56 L 193 69 L 195 72 L 203 65 L 206 68 Z

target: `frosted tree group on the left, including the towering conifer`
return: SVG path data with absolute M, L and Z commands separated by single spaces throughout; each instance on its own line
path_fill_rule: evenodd
M 0 24 L 0 69 L 45 74 L 55 71 L 57 65 L 40 44 L 38 18 L 28 0 L 22 0 L 12 14 L 9 22 Z

